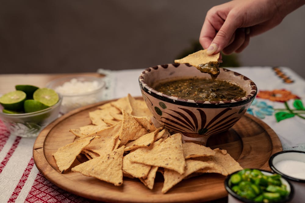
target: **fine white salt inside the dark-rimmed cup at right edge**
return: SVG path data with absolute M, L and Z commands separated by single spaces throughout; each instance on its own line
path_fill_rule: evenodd
M 289 177 L 305 179 L 305 162 L 283 160 L 274 164 L 274 167 Z

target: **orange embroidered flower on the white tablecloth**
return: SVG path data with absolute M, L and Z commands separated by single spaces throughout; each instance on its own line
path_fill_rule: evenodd
M 270 101 L 286 102 L 291 99 L 300 99 L 300 97 L 292 94 L 286 89 L 274 89 L 272 91 L 259 91 L 257 97 L 268 99 Z

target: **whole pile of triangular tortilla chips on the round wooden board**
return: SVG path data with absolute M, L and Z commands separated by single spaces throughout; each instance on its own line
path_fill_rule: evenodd
M 91 125 L 70 129 L 77 138 L 53 154 L 61 173 L 68 170 L 77 156 L 88 161 L 72 167 L 72 172 L 98 178 L 116 186 L 123 177 L 138 178 L 153 188 L 157 172 L 164 177 L 162 193 L 184 178 L 203 173 L 224 176 L 242 167 L 223 149 L 182 143 L 180 133 L 156 128 L 143 100 L 128 94 L 89 112 Z

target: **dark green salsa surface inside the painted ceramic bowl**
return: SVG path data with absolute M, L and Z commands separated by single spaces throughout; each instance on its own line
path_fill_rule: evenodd
M 246 96 L 245 90 L 230 82 L 197 77 L 162 82 L 154 89 L 169 96 L 199 101 L 224 101 Z

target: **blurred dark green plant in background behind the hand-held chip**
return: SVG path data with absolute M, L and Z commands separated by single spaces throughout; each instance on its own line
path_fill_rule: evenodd
M 182 50 L 182 52 L 176 57 L 176 59 L 186 57 L 189 54 L 192 54 L 196 51 L 202 50 L 202 46 L 198 40 L 193 40 L 191 46 Z M 240 63 L 238 61 L 237 54 L 224 55 L 222 54 L 222 63 L 220 67 L 239 67 Z

